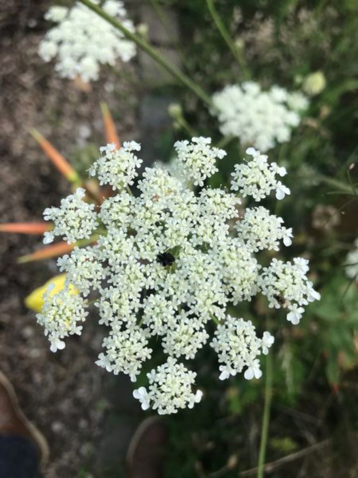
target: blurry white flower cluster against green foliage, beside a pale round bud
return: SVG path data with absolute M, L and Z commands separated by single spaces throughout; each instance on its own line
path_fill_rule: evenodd
M 220 131 L 238 137 L 244 147 L 254 146 L 263 152 L 289 141 L 300 114 L 308 107 L 300 92 L 289 93 L 278 86 L 263 91 L 252 81 L 226 86 L 212 100 Z

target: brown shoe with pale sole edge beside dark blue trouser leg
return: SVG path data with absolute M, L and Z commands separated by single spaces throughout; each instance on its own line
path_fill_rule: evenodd
M 0 371 L 0 436 L 23 437 L 38 450 L 43 465 L 48 460 L 48 445 L 42 433 L 25 417 L 11 383 Z

